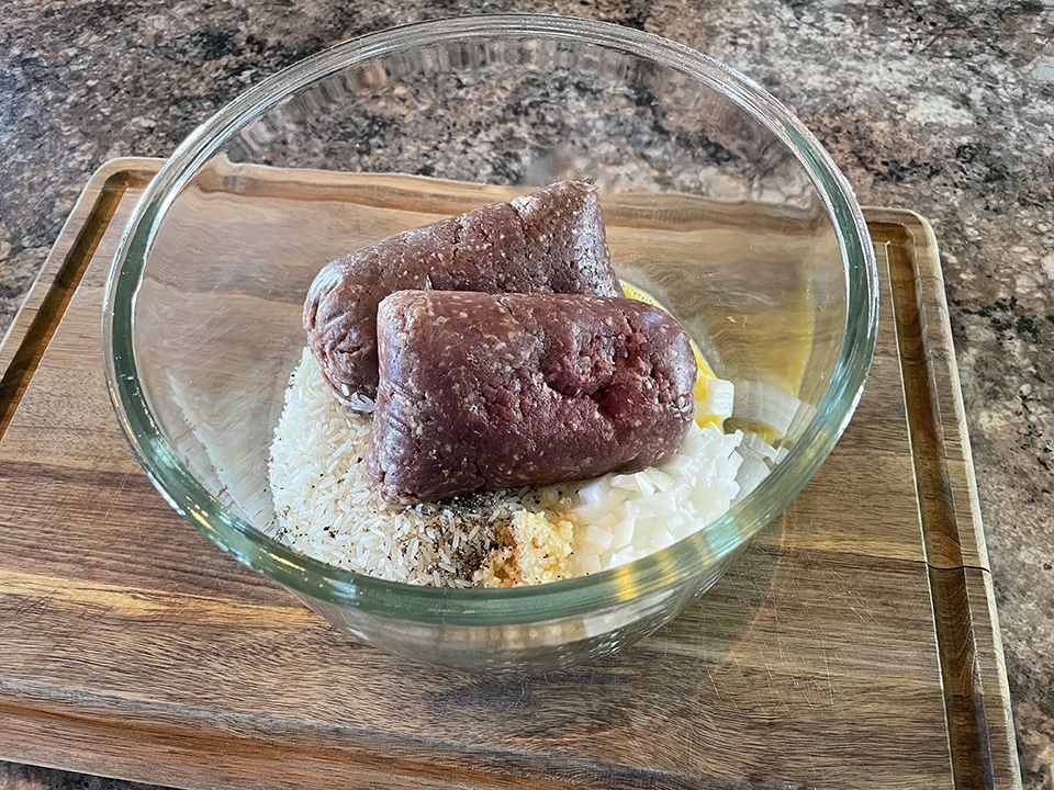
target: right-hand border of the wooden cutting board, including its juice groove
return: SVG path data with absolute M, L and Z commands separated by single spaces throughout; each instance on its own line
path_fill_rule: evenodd
M 1016 790 L 1021 770 L 1010 690 L 937 236 L 916 212 L 864 212 L 873 230 L 893 226 L 910 242 L 901 246 L 910 255 L 889 261 L 893 308 L 956 785 Z M 898 278 L 898 267 L 910 276 Z M 920 357 L 924 381 L 909 375 Z M 990 644 L 990 655 L 978 644 Z

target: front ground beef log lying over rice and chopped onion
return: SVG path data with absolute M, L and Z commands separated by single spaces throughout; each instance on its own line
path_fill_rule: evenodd
M 404 291 L 378 336 L 367 470 L 389 501 L 640 470 L 693 418 L 691 341 L 641 302 Z

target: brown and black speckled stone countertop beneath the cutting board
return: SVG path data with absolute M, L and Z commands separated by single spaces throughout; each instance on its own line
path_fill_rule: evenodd
M 399 9 L 399 10 L 396 10 Z M 158 156 L 332 43 L 511 0 L 0 4 L 0 332 L 89 176 Z M 1025 788 L 1054 790 L 1054 0 L 548 0 L 643 27 L 790 105 L 861 202 L 942 248 Z M 0 790 L 128 782 L 0 763 Z

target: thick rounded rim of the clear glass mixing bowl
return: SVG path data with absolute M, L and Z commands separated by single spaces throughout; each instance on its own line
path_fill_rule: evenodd
M 795 448 L 708 529 L 735 534 L 717 549 L 693 535 L 631 564 L 564 582 L 512 589 L 451 589 L 385 582 L 293 552 L 215 499 L 179 461 L 139 384 L 132 347 L 136 289 L 168 207 L 193 174 L 254 119 L 298 89 L 346 66 L 423 43 L 535 36 L 602 46 L 655 60 L 720 91 L 795 153 L 827 203 L 845 271 L 845 336 L 830 385 Z M 782 103 L 725 64 L 660 36 L 606 22 L 542 14 L 484 14 L 418 22 L 354 38 L 294 64 L 249 89 L 195 129 L 162 166 L 124 230 L 105 287 L 104 363 L 124 435 L 155 487 L 220 548 L 279 584 L 382 618 L 461 625 L 542 622 L 587 614 L 659 594 L 702 575 L 778 515 L 829 455 L 860 399 L 875 347 L 878 280 L 866 223 L 852 190 L 819 142 Z

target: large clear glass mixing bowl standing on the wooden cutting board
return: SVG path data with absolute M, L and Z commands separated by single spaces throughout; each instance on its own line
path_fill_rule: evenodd
M 778 448 L 767 476 L 668 549 L 535 587 L 390 583 L 267 537 L 268 448 L 318 269 L 569 178 L 598 189 L 620 276 L 750 393 L 729 427 L 767 431 Z M 135 210 L 104 320 L 133 451 L 218 546 L 370 644 L 529 672 L 609 653 L 675 617 L 801 489 L 860 397 L 877 276 L 844 178 L 756 84 L 647 33 L 489 15 L 347 42 L 210 119 Z

